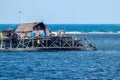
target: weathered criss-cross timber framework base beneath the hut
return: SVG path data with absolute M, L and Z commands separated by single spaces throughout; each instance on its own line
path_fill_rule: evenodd
M 0 51 L 95 50 L 76 37 L 0 38 Z

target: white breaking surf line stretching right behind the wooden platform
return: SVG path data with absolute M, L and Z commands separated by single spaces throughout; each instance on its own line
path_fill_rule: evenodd
M 56 32 L 52 32 L 53 34 L 57 34 Z M 93 32 L 77 32 L 77 31 L 74 31 L 74 32 L 66 32 L 66 34 L 120 34 L 120 31 L 118 32 L 112 32 L 112 31 L 109 31 L 109 32 L 97 32 L 97 31 L 93 31 Z

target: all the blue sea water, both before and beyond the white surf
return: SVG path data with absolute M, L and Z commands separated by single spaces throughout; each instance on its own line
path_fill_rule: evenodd
M 17 26 L 4 24 L 0 29 Z M 118 24 L 47 26 L 52 31 L 105 33 L 71 34 L 77 37 L 87 35 L 97 51 L 0 52 L 0 80 L 120 80 Z

